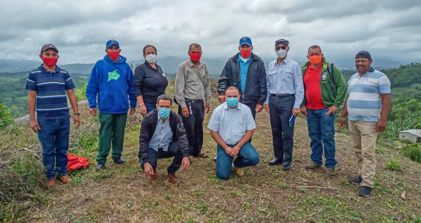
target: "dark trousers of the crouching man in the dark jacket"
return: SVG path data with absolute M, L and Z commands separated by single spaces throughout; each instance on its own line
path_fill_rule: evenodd
M 157 160 L 174 157 L 171 166 L 167 168 L 168 173 L 172 174 L 174 174 L 177 170 L 180 169 L 181 161 L 183 161 L 183 153 L 178 148 L 178 142 L 175 141 L 170 142 L 170 144 L 168 145 L 168 151 L 163 151 L 162 148 L 159 148 L 158 151 L 149 148 L 148 154 L 148 161 L 153 169 L 156 169 Z M 144 169 L 144 163 L 144 160 L 140 159 L 140 167 L 142 169 Z

